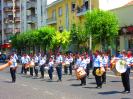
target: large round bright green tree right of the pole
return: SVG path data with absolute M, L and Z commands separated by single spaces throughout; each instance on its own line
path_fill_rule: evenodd
M 113 46 L 113 39 L 118 35 L 118 19 L 110 11 L 94 9 L 85 15 L 86 37 L 93 38 L 93 44 L 101 43 L 102 49 Z

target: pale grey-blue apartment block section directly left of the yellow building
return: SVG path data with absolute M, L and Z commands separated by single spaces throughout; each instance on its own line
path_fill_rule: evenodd
M 46 25 L 47 0 L 21 1 L 21 31 L 37 29 Z

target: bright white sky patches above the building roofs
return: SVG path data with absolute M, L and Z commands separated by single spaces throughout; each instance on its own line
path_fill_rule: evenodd
M 56 0 L 47 0 L 47 3 L 50 4 L 54 1 Z M 114 9 L 123 6 L 129 1 L 131 0 L 100 0 L 100 8 L 103 10 Z

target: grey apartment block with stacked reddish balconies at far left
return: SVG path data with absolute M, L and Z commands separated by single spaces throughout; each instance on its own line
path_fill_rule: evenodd
M 2 44 L 8 43 L 11 37 L 20 33 L 20 0 L 1 0 Z

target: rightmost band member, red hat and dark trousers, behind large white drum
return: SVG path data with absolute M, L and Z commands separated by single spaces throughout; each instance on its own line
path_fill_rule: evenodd
M 123 87 L 124 87 L 124 91 L 123 93 L 130 93 L 130 78 L 129 78 L 129 75 L 130 75 L 130 68 L 131 68 L 131 65 L 133 63 L 133 57 L 132 57 L 132 52 L 131 51 L 128 51 L 127 53 L 127 58 L 126 59 L 126 64 L 127 64 L 127 70 L 126 72 L 122 73 L 121 74 L 121 79 L 122 79 L 122 84 L 123 84 Z

